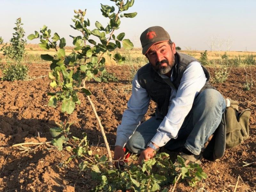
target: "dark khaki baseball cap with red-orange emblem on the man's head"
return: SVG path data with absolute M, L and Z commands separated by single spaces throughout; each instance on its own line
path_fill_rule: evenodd
M 146 55 L 152 45 L 169 41 L 170 39 L 170 35 L 162 27 L 153 26 L 147 28 L 140 36 L 142 54 Z

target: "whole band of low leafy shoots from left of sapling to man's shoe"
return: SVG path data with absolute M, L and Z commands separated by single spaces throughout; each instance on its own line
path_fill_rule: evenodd
M 73 155 L 59 164 L 60 167 L 66 167 L 68 163 L 75 158 L 80 158 L 78 164 L 80 171 L 91 173 L 92 179 L 98 184 L 92 191 L 125 191 L 132 189 L 139 191 L 168 191 L 166 186 L 186 180 L 191 187 L 196 187 L 207 175 L 198 164 L 189 164 L 186 166 L 184 159 L 178 156 L 180 171 L 175 171 L 176 167 L 172 164 L 169 154 L 158 153 L 148 161 L 143 162 L 142 166 L 125 163 L 119 169 L 108 167 L 108 158 L 103 155 L 93 154 L 87 140 L 86 133 L 82 134 L 82 139 L 72 136 L 70 132 L 70 123 L 62 122 L 58 127 L 50 129 L 52 144 L 63 150 L 72 152 Z M 129 160 L 138 160 L 135 155 L 130 156 Z M 82 161 L 81 161 L 82 160 Z M 128 159 L 127 159 L 128 160 Z

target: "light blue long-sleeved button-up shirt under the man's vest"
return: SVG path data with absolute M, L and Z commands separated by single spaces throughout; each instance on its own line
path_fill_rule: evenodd
M 160 76 L 169 78 L 165 75 Z M 162 147 L 170 139 L 177 138 L 178 131 L 192 108 L 196 95 L 203 88 L 205 82 L 206 77 L 201 64 L 197 61 L 191 62 L 183 73 L 177 92 L 170 87 L 172 92 L 168 113 L 157 128 L 156 135 L 151 139 L 153 143 Z M 136 74 L 132 81 L 131 98 L 127 103 L 127 109 L 123 113 L 122 123 L 117 127 L 116 145 L 125 146 L 146 114 L 149 101 L 148 92 L 140 86 Z

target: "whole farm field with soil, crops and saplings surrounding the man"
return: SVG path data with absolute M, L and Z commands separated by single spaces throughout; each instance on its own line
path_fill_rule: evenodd
M 70 27 L 80 35 L 68 34 L 73 46 L 46 25 L 25 36 L 21 17 L 9 41 L 0 36 L 0 191 L 255 192 L 255 52 L 180 50 L 208 68 L 211 84 L 237 100 L 239 111 L 251 110 L 250 136 L 241 145 L 214 162 L 203 159 L 202 165 L 185 164 L 164 148 L 142 162 L 120 146 L 114 156 L 132 79 L 148 60 L 118 31 L 123 18 L 136 17 L 137 12 L 126 12 L 134 0 L 110 1 L 115 6 L 100 4 L 108 20 L 103 25 L 91 24 L 87 9 L 74 10 Z M 156 34 L 152 29 L 145 38 Z M 142 121 L 155 108 L 150 102 Z

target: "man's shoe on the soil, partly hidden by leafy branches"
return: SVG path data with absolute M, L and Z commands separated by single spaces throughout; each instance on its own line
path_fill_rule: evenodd
M 184 165 L 187 167 L 189 164 L 202 164 L 201 162 L 201 155 L 187 155 L 183 152 L 180 153 L 180 156 L 184 159 Z M 175 160 L 175 163 L 173 164 L 175 166 L 175 171 L 179 171 L 182 167 L 182 164 L 180 164 L 180 162 L 178 161 L 178 159 Z

